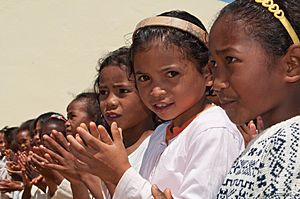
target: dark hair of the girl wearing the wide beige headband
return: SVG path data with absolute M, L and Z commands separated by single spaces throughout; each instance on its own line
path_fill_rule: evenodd
M 173 10 L 164 12 L 158 16 L 179 18 L 191 22 L 206 31 L 204 25 L 198 18 L 185 11 Z M 202 68 L 208 62 L 208 48 L 203 41 L 200 41 L 199 38 L 191 33 L 173 27 L 146 26 L 138 29 L 133 34 L 130 49 L 132 66 L 134 65 L 134 55 L 140 50 L 149 48 L 151 42 L 157 39 L 161 40 L 166 47 L 175 45 L 181 49 L 186 58 L 193 60 L 197 64 L 197 69 L 200 73 L 202 72 Z

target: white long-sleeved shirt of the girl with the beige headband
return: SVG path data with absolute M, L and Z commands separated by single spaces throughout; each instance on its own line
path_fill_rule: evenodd
M 170 188 L 176 198 L 216 198 L 226 173 L 244 149 L 243 138 L 220 107 L 198 116 L 167 146 L 166 128 L 152 134 L 141 175 L 128 169 L 118 183 L 114 199 L 152 198 L 151 184 Z

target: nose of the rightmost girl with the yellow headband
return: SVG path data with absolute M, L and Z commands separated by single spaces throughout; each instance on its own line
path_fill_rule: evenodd
M 222 69 L 222 67 L 218 66 L 213 71 L 213 90 L 218 93 L 222 89 L 229 87 L 229 81 L 228 81 L 228 72 L 225 69 Z

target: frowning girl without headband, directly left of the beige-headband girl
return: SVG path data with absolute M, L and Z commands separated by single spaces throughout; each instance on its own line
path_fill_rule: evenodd
M 117 121 L 122 127 L 123 141 L 129 161 L 138 171 L 149 141 L 149 135 L 154 129 L 154 122 L 152 112 L 142 103 L 137 93 L 134 77 L 130 72 L 129 66 L 128 48 L 122 47 L 109 53 L 107 57 L 99 60 L 98 77 L 95 81 L 94 88 L 99 96 L 100 109 L 105 121 L 109 125 L 111 125 L 113 121 Z M 53 136 L 56 138 L 60 137 L 60 139 L 57 140 L 62 139 L 57 132 L 54 132 Z M 64 150 L 58 143 L 54 143 L 53 141 L 53 139 L 46 136 L 46 142 L 58 151 L 59 154 L 63 154 L 63 158 L 62 156 L 58 157 L 57 154 L 54 154 L 51 151 L 47 151 L 51 157 L 61 162 L 59 166 L 53 164 L 45 164 L 45 166 L 61 171 L 63 170 L 64 172 L 67 170 L 69 172 L 71 170 L 73 171 L 74 168 L 66 169 L 67 166 L 72 164 L 70 161 L 67 164 L 66 159 L 73 160 L 74 157 L 71 157 L 67 150 Z M 68 148 L 66 142 L 61 142 L 60 144 L 63 145 L 64 148 Z M 84 173 L 86 173 L 86 171 Z M 83 180 L 86 185 L 89 183 L 86 178 L 81 178 L 81 180 Z M 94 187 L 91 187 L 90 185 L 87 186 L 90 190 L 95 190 Z M 94 184 L 93 186 L 97 186 L 96 189 L 99 190 L 100 184 Z M 108 187 L 110 193 L 113 194 L 114 187 Z M 104 191 L 106 191 L 106 189 L 104 189 Z M 92 193 L 95 196 L 93 191 Z M 105 195 L 106 197 L 110 197 L 108 193 L 105 193 Z M 81 195 L 81 198 L 84 197 Z

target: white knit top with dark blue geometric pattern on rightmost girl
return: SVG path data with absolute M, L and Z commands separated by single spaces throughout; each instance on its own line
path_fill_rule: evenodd
M 275 124 L 234 162 L 218 198 L 300 198 L 300 116 Z

